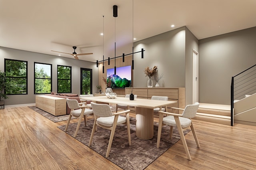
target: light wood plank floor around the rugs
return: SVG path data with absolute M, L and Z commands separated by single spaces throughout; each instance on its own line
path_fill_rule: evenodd
M 65 124 L 53 123 L 28 107 L 1 109 L 0 169 L 120 169 L 57 128 Z M 194 127 L 201 148 L 191 131 L 185 136 L 192 160 L 180 140 L 146 169 L 256 169 L 256 127 L 196 120 Z

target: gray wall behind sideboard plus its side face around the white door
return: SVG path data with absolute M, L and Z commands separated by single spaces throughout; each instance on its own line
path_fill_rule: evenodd
M 186 27 L 159 34 L 134 43 L 134 87 L 147 87 L 144 68 L 158 66 L 160 87 L 186 87 L 186 105 L 192 103 L 192 51 L 198 51 L 198 39 Z M 155 85 L 156 82 L 154 81 Z

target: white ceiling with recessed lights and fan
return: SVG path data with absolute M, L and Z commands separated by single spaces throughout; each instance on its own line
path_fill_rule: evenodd
M 132 37 L 182 26 L 198 40 L 254 27 L 256 0 L 0 0 L 0 46 L 57 56 L 51 50 L 72 53 L 77 46 L 77 53 L 94 53 L 79 56 L 85 61 L 114 57 L 114 42 L 116 56 L 131 53 Z

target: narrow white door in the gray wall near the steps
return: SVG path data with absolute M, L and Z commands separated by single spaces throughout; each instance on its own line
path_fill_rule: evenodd
M 192 65 L 192 103 L 198 102 L 198 52 L 193 49 Z

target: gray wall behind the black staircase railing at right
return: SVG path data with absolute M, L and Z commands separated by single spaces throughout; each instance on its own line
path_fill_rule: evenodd
M 256 64 L 256 27 L 199 40 L 199 102 L 230 105 L 232 76 Z

